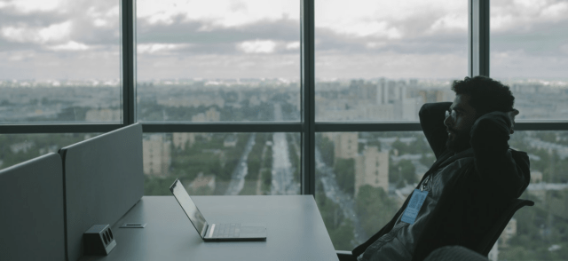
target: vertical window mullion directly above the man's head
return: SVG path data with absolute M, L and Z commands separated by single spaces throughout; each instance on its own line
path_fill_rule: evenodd
M 489 76 L 489 0 L 469 0 L 469 76 Z

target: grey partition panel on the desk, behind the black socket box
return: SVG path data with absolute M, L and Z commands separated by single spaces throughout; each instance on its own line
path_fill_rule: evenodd
M 83 255 L 83 232 L 113 225 L 144 194 L 139 123 L 62 148 L 67 257 Z M 119 245 L 121 242 L 117 242 Z

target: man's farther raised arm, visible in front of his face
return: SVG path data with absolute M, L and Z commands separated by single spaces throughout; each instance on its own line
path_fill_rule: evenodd
M 444 125 L 446 110 L 451 102 L 427 103 L 420 108 L 420 125 L 436 158 L 446 150 L 447 131 Z

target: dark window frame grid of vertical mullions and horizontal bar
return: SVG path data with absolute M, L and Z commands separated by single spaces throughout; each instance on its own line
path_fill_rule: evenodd
M 300 0 L 301 120 L 271 123 L 142 123 L 144 132 L 299 132 L 301 194 L 315 197 L 315 133 L 422 130 L 418 121 L 381 123 L 315 121 L 314 0 Z M 469 76 L 489 76 L 489 0 L 468 0 Z M 0 124 L 0 134 L 107 132 L 137 122 L 136 0 L 120 0 L 122 123 Z M 521 120 L 516 130 L 568 130 L 568 121 Z

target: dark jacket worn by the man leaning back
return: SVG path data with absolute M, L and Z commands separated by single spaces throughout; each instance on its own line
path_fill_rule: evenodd
M 443 246 L 477 249 L 493 220 L 509 202 L 523 194 L 531 179 L 528 155 L 509 148 L 510 120 L 504 113 L 479 117 L 471 128 L 471 148 L 459 154 L 448 151 L 444 119 L 451 105 L 450 102 L 430 103 L 420 109 L 422 130 L 436 155 L 436 162 L 422 180 L 458 159 L 469 158 L 470 162 L 457 170 L 444 187 L 416 243 L 413 260 L 422 260 Z M 387 225 L 352 250 L 353 256 L 359 257 L 369 245 L 390 232 L 411 196 Z

